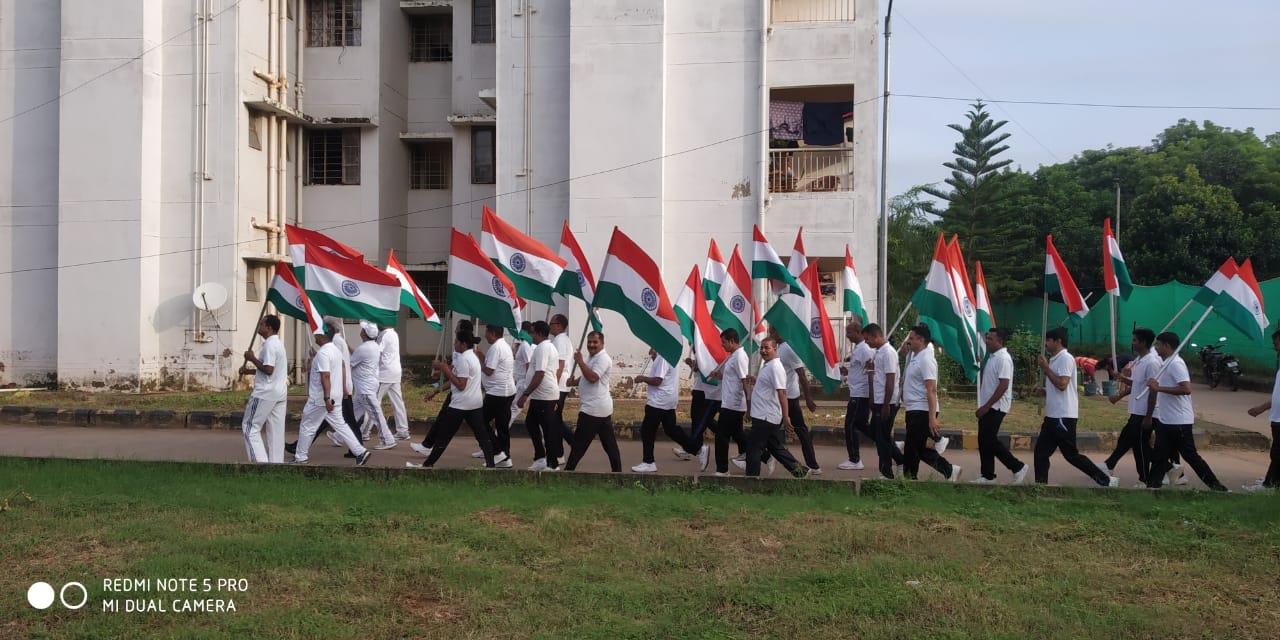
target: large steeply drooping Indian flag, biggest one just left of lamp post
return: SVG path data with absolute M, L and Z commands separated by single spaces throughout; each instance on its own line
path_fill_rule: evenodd
M 778 335 L 791 346 L 805 370 L 818 379 L 822 388 L 832 392 L 840 387 L 840 355 L 827 307 L 822 303 L 818 264 L 805 268 L 797 282 L 801 293 L 780 294 L 778 301 L 764 314 L 764 320 L 778 330 Z

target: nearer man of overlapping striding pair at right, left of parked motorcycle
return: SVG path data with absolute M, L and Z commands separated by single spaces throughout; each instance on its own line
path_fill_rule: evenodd
M 1204 486 L 1215 492 L 1226 492 L 1226 486 L 1217 480 L 1208 462 L 1196 451 L 1196 439 L 1192 436 L 1192 425 L 1196 424 L 1196 410 L 1192 406 L 1192 375 L 1187 370 L 1187 362 L 1178 355 L 1181 339 L 1172 332 L 1165 332 L 1156 337 L 1156 355 L 1164 361 L 1161 367 L 1151 374 L 1147 380 L 1148 413 L 1144 424 L 1153 424 L 1156 428 L 1156 457 L 1147 474 L 1147 486 L 1160 489 L 1165 474 L 1172 468 L 1170 457 L 1176 451 L 1183 457 L 1183 462 L 1196 471 Z M 1153 421 L 1152 421 L 1153 420 Z

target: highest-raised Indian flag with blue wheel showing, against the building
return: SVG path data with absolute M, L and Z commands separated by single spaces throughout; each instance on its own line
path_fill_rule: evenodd
M 553 305 L 552 293 L 564 274 L 564 259 L 547 244 L 525 236 L 484 207 L 480 220 L 480 247 L 516 284 L 525 300 Z

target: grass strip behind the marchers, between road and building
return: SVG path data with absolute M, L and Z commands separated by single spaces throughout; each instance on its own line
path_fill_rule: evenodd
M 443 396 L 434 401 L 425 401 L 424 396 L 429 387 L 406 385 L 404 402 L 411 417 L 434 416 L 440 407 Z M 289 411 L 300 412 L 306 401 L 306 389 L 294 387 L 289 390 Z M 146 410 L 173 410 L 173 411 L 241 411 L 244 408 L 246 392 L 191 392 L 191 393 L 86 393 L 86 392 L 12 392 L 0 394 L 0 404 L 29 404 L 61 408 L 136 408 Z M 1039 433 L 1043 419 L 1039 407 L 1043 399 L 1018 401 L 1014 410 L 1005 419 L 1002 431 L 1005 433 Z M 384 407 L 389 411 L 390 403 Z M 942 426 L 955 429 L 977 430 L 977 419 L 973 415 L 974 402 L 972 397 L 955 396 L 942 399 Z M 680 404 L 680 419 L 689 420 L 687 397 Z M 570 398 L 566 407 L 566 417 L 570 424 L 576 420 L 577 399 Z M 640 422 L 644 415 L 644 401 L 640 397 L 618 398 L 614 402 L 613 419 L 616 422 Z M 390 417 L 388 415 L 388 417 Z M 815 415 L 808 415 L 810 426 L 844 426 L 845 404 L 841 402 L 823 402 Z M 1080 398 L 1080 431 L 1119 431 L 1128 417 L 1128 410 L 1121 402 L 1112 406 L 1102 398 Z M 899 417 L 901 425 L 902 417 Z

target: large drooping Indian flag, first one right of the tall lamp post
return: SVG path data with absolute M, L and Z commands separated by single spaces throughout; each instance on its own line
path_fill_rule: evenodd
M 942 234 L 933 246 L 933 261 L 911 296 L 911 305 L 919 311 L 920 321 L 929 326 L 933 342 L 955 360 L 969 380 L 978 379 L 978 358 L 972 342 L 965 337 L 969 324 L 961 311 L 961 302 L 951 275 L 951 257 Z

